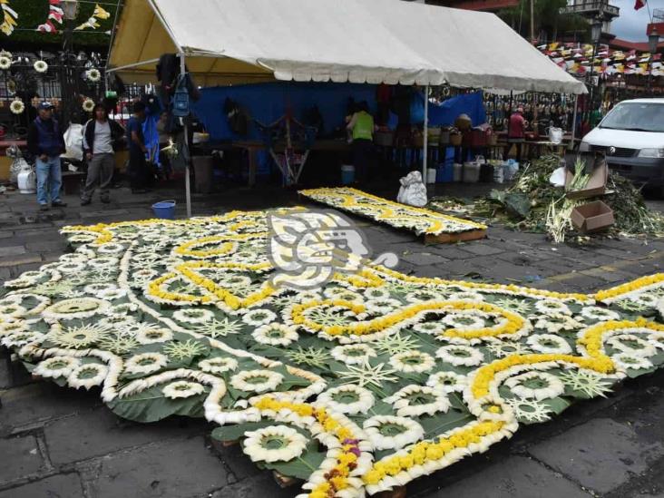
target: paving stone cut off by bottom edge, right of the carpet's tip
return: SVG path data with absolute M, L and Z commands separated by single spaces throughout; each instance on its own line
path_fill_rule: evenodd
M 511 456 L 431 498 L 590 498 L 574 483 L 523 456 Z

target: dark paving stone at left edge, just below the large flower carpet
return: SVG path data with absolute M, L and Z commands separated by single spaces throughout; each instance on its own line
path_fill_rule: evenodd
M 96 393 L 76 392 L 49 382 L 15 387 L 2 395 L 0 434 L 43 425 L 45 421 L 99 405 Z

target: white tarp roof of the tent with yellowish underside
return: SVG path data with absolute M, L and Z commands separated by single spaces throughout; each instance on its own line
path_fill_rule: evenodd
M 151 9 L 148 8 L 148 3 Z M 585 93 L 496 15 L 401 0 L 126 0 L 110 66 L 183 50 L 200 84 L 443 84 Z

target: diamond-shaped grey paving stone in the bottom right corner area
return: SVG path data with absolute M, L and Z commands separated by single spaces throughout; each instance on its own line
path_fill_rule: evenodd
M 608 418 L 573 427 L 529 449 L 544 464 L 599 493 L 645 472 L 662 452 L 661 441 L 641 439 L 630 425 Z

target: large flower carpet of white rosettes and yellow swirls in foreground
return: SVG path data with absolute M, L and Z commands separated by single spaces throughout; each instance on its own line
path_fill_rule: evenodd
M 278 210 L 288 212 L 288 210 Z M 5 282 L 0 341 L 117 415 L 204 416 L 303 493 L 378 493 L 664 364 L 664 275 L 596 295 L 366 265 L 274 288 L 266 212 L 63 228 Z

